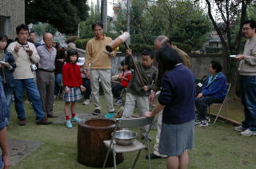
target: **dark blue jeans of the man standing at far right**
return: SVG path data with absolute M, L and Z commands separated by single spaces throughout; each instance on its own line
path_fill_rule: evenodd
M 256 131 L 256 76 L 241 76 L 240 85 L 245 113 L 245 120 L 242 121 L 242 127 Z

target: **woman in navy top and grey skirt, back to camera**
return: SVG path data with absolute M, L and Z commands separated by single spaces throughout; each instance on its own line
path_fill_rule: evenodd
M 145 116 L 163 109 L 159 153 L 167 155 L 167 168 L 186 168 L 188 149 L 194 147 L 194 73 L 182 64 L 178 52 L 169 46 L 158 51 L 164 75 L 158 104 Z

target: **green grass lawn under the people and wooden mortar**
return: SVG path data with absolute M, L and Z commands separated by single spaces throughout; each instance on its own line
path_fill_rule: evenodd
M 105 98 L 101 97 L 103 101 Z M 102 104 L 102 112 L 106 112 L 106 104 Z M 55 115 L 62 115 L 64 102 L 57 100 L 54 106 Z M 214 109 L 214 108 L 213 108 Z M 89 106 L 77 104 L 77 112 L 90 113 L 94 110 L 93 104 Z M 47 169 L 69 168 L 90 169 L 77 162 L 77 127 L 66 128 L 61 124 L 42 126 L 35 124 L 34 112 L 30 105 L 26 104 L 27 124 L 24 127 L 18 125 L 14 105 L 11 108 L 11 124 L 7 128 L 8 138 L 17 140 L 39 140 L 43 143 L 30 155 L 26 156 L 12 169 Z M 223 111 L 222 111 L 223 113 Z M 242 105 L 240 103 L 228 104 L 228 116 L 231 119 L 241 121 Z M 137 132 L 139 132 L 137 130 Z M 156 130 L 150 132 L 154 138 Z M 190 151 L 189 168 L 256 168 L 256 137 L 240 136 L 234 131 L 234 126 L 217 122 L 214 126 L 195 128 L 195 148 Z M 151 142 L 154 147 L 154 140 Z M 125 154 L 125 160 L 118 168 L 129 168 L 133 162 L 135 153 Z M 147 168 L 145 159 L 146 151 L 138 160 L 136 168 Z M 166 159 L 154 159 L 151 161 L 152 168 L 166 168 Z

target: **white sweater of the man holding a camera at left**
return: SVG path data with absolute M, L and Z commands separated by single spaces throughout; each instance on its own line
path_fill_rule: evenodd
M 18 53 L 14 50 L 16 45 L 20 46 Z M 26 48 L 25 46 L 29 46 L 30 50 L 33 51 L 31 57 L 29 57 L 29 55 L 26 53 L 25 49 L 28 48 Z M 33 43 L 27 42 L 24 47 L 25 49 L 23 49 L 22 44 L 18 43 L 18 41 L 14 41 L 7 48 L 8 51 L 13 53 L 14 61 L 16 64 L 16 69 L 13 73 L 14 79 L 34 78 L 34 73 L 32 72 L 30 65 L 36 64 L 40 60 L 37 49 L 35 48 Z

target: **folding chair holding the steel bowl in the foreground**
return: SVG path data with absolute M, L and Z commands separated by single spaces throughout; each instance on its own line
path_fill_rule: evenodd
M 112 150 L 112 152 L 113 152 L 114 169 L 117 169 L 116 159 L 115 159 L 115 154 L 116 153 L 125 153 L 125 152 L 130 152 L 130 151 L 138 151 L 138 154 L 136 155 L 136 158 L 134 160 L 134 164 L 131 167 L 131 169 L 134 169 L 135 164 L 136 164 L 136 162 L 138 160 L 138 156 L 140 155 L 140 152 L 142 151 L 142 149 L 147 149 L 148 156 L 150 157 L 150 140 L 148 138 L 148 134 L 149 134 L 150 129 L 152 127 L 153 121 L 154 121 L 154 117 L 150 117 L 150 118 L 139 117 L 139 118 L 132 118 L 132 119 L 117 119 L 112 139 L 111 140 L 103 141 L 105 146 L 108 147 L 108 151 L 106 153 L 106 158 L 105 158 L 105 161 L 103 163 L 103 167 L 102 168 L 105 168 L 105 166 L 106 166 L 106 160 L 108 159 L 108 156 L 110 154 L 110 150 Z M 134 143 L 132 143 L 129 146 L 121 146 L 121 145 L 118 145 L 118 144 L 115 143 L 115 141 L 114 141 L 114 134 L 118 130 L 118 128 L 137 128 L 137 127 L 146 126 L 148 124 L 150 126 L 148 128 L 148 131 L 146 132 L 145 139 L 142 141 L 142 143 L 139 142 L 138 140 L 134 140 Z M 147 146 L 144 145 L 145 142 L 147 142 Z M 151 168 L 150 158 L 148 159 L 148 165 L 149 165 L 149 168 Z

